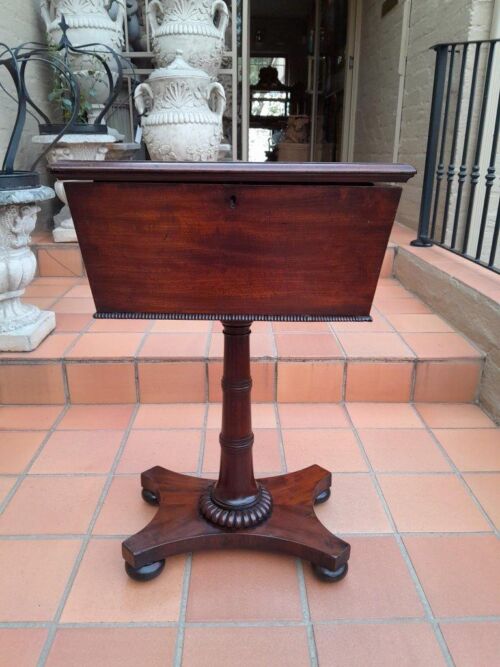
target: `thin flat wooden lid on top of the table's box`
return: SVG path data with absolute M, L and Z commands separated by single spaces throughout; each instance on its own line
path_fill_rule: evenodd
M 415 175 L 407 164 L 356 162 L 78 162 L 50 167 L 61 179 L 149 183 L 405 183 Z

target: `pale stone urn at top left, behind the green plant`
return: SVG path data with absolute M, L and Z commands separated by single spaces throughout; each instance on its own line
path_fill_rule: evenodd
M 72 46 L 86 46 L 88 51 L 104 58 L 116 80 L 116 61 L 107 55 L 108 46 L 122 51 L 125 0 L 115 0 L 114 19 L 108 13 L 110 0 L 41 0 L 42 18 L 49 44 L 58 44 L 62 30 L 62 15 L 68 24 L 67 36 Z M 109 84 L 104 65 L 91 53 L 68 54 L 69 65 L 75 74 L 84 97 L 94 104 L 104 104 L 109 96 Z

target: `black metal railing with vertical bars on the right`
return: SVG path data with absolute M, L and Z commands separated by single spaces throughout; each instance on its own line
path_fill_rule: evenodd
M 500 40 L 437 44 L 416 246 L 500 273 Z

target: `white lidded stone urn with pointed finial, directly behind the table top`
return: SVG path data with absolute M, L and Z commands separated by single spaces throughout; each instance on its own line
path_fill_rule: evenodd
M 224 88 L 188 65 L 181 52 L 135 89 L 144 141 L 152 160 L 215 162 L 222 137 Z

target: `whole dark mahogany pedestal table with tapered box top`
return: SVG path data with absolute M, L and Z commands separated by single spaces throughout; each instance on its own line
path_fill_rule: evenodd
M 244 547 L 347 573 L 350 547 L 316 518 L 331 475 L 319 466 L 256 480 L 250 324 L 368 318 L 406 165 L 58 164 L 98 313 L 219 317 L 224 325 L 221 464 L 216 482 L 156 467 L 151 523 L 123 543 L 148 580 L 170 555 Z M 235 322 L 239 319 L 239 322 Z M 248 320 L 248 321 L 247 321 Z

